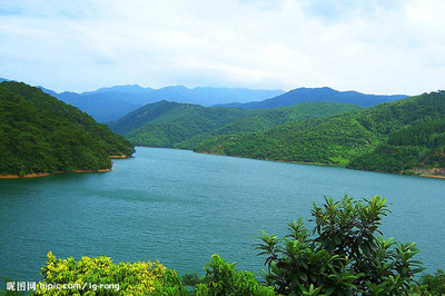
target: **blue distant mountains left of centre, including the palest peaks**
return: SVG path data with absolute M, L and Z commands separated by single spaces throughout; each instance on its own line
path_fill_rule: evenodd
M 57 93 L 52 90 L 40 88 L 59 100 L 78 107 L 100 122 L 116 120 L 144 105 L 160 100 L 211 106 L 231 101 L 264 100 L 284 93 L 283 90 L 211 87 L 189 89 L 184 86 L 152 89 L 137 85 L 101 88 L 82 93 L 69 91 Z

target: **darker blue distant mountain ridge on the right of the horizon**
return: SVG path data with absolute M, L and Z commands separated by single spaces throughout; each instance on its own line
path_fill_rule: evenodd
M 294 106 L 300 102 L 313 101 L 332 101 L 353 103 L 363 107 L 370 107 L 382 102 L 395 101 L 404 99 L 408 96 L 378 96 L 365 95 L 357 91 L 338 91 L 332 88 L 297 88 L 286 93 L 269 98 L 263 101 L 250 101 L 247 103 L 233 102 L 225 105 L 217 105 L 219 107 L 234 107 L 241 109 L 269 109 L 276 107 Z

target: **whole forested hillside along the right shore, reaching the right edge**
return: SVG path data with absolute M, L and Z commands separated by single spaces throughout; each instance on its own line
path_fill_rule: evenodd
M 201 139 L 195 150 L 356 169 L 442 174 L 445 91 L 328 119 L 296 120 L 263 132 Z

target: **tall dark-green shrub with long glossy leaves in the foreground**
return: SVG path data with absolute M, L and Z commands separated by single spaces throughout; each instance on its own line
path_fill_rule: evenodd
M 389 211 L 378 196 L 355 201 L 325 198 L 312 210 L 309 231 L 301 218 L 283 239 L 263 233 L 259 255 L 267 255 L 267 285 L 284 295 L 403 295 L 409 293 L 422 263 L 414 243 L 385 240 L 378 227 Z M 314 236 L 316 235 L 316 236 Z

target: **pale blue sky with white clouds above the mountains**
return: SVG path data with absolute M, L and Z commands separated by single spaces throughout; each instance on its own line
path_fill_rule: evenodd
M 0 2 L 0 77 L 58 92 L 445 89 L 443 0 Z

